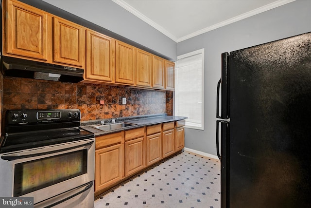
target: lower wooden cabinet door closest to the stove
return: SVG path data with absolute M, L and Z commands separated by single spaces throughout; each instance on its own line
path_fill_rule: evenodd
M 117 144 L 95 151 L 95 191 L 122 179 L 124 173 L 123 145 Z

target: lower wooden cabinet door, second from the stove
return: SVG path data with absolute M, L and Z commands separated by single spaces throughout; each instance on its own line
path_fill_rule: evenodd
M 137 172 L 145 167 L 144 137 L 125 142 L 125 176 Z

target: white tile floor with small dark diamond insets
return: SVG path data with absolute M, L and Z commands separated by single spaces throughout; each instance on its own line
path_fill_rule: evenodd
M 220 162 L 182 151 L 95 201 L 95 208 L 220 208 Z

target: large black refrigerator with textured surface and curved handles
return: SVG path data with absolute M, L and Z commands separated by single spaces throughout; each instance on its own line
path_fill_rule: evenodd
M 216 116 L 222 208 L 311 208 L 311 33 L 222 54 Z

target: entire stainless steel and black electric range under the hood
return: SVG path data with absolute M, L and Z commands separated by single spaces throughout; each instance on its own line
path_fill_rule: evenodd
M 8 110 L 0 143 L 0 196 L 35 208 L 93 208 L 95 137 L 80 110 Z

